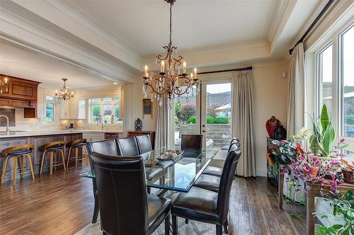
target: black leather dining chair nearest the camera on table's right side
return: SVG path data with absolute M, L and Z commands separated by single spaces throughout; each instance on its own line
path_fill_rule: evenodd
M 225 160 L 219 193 L 192 187 L 188 193 L 179 193 L 171 207 L 173 235 L 178 234 L 177 217 L 199 222 L 216 224 L 216 234 L 222 234 L 222 226 L 227 233 L 227 214 L 234 172 L 241 156 L 241 150 L 232 144 Z

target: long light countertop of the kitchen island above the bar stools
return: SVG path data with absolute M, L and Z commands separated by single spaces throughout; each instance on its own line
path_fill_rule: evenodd
M 6 132 L 0 132 L 0 139 L 11 138 L 11 137 L 33 137 L 33 136 L 56 135 L 56 134 L 79 134 L 84 132 L 122 133 L 120 131 L 114 131 L 114 130 L 52 130 L 52 131 L 36 131 L 36 132 L 11 131 L 10 134 L 6 134 Z

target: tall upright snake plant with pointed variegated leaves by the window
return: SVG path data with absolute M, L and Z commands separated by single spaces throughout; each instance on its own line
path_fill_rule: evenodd
M 345 149 L 349 144 L 334 145 L 336 131 L 329 119 L 327 106 L 324 104 L 319 118 L 312 117 L 312 136 L 309 138 L 309 149 L 316 156 L 331 156 L 333 152 Z

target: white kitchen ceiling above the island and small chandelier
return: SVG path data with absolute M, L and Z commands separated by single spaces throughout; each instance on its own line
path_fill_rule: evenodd
M 70 88 L 113 85 L 113 81 L 89 74 L 72 64 L 25 47 L 18 47 L 5 40 L 0 40 L 0 74 L 40 81 L 44 86 L 52 88 L 62 87 L 62 78 L 68 79 L 67 86 Z

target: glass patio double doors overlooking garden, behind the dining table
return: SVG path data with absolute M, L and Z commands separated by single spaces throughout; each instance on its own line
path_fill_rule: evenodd
M 232 139 L 231 79 L 200 81 L 196 96 L 175 98 L 169 110 L 170 146 L 181 147 L 181 134 L 203 134 L 203 148 L 220 148 Z M 196 93 L 196 92 L 194 92 Z

